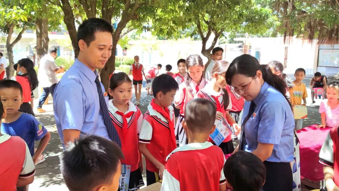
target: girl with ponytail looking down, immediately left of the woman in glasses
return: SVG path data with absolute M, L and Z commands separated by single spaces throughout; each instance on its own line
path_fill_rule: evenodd
M 211 82 L 200 90 L 194 98 L 204 98 L 212 101 L 217 108 L 216 119 L 221 120 L 224 118 L 230 126 L 233 126 L 236 130 L 240 130 L 239 125 L 234 121 L 231 114 L 228 113 L 228 111 L 232 109 L 231 98 L 228 96 L 228 92 L 225 89 L 227 86 L 225 73 L 228 65 L 230 64 L 227 61 L 218 61 L 212 69 Z M 214 144 L 212 139 L 208 139 L 208 141 Z M 231 134 L 226 137 L 219 147 L 224 154 L 230 154 L 234 151 Z

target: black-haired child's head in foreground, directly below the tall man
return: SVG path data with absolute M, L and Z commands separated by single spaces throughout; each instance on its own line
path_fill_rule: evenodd
M 85 135 L 68 144 L 60 157 L 60 170 L 70 191 L 116 191 L 122 158 L 115 142 Z

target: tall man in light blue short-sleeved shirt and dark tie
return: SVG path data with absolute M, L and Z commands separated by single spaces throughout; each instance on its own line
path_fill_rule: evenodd
M 55 122 L 63 148 L 80 135 L 121 142 L 109 117 L 108 96 L 96 69 L 112 54 L 113 28 L 103 19 L 85 20 L 78 28 L 78 58 L 62 76 L 53 97 Z

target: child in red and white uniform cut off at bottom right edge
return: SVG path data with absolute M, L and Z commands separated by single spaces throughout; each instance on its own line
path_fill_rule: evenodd
M 339 136 L 338 127 L 328 133 L 319 153 L 319 162 L 324 167 L 325 183 L 328 191 L 339 190 Z

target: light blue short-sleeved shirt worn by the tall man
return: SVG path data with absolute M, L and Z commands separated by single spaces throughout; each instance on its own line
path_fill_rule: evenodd
M 77 129 L 80 135 L 98 135 L 108 140 L 108 132 L 100 113 L 99 95 L 95 78 L 98 75 L 75 60 L 74 64 L 62 76 L 53 96 L 55 122 L 64 147 L 65 129 Z M 101 84 L 104 93 L 104 87 Z M 108 103 L 108 97 L 105 97 Z

